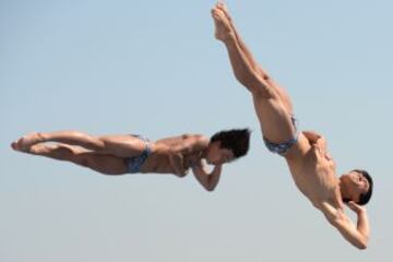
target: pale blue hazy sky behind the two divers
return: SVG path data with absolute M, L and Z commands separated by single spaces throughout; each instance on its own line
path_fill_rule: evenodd
M 392 1 L 227 1 L 258 60 L 323 133 L 337 171 L 374 177 L 358 251 L 262 144 L 213 37 L 211 0 L 0 2 L 0 261 L 391 261 Z M 253 130 L 213 193 L 189 176 L 105 177 L 12 152 L 31 131 Z

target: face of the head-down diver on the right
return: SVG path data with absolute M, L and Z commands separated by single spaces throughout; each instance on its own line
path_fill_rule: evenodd
M 343 186 L 348 190 L 350 195 L 354 195 L 355 202 L 359 201 L 360 194 L 366 193 L 370 184 L 364 175 L 357 171 L 350 171 L 341 177 Z

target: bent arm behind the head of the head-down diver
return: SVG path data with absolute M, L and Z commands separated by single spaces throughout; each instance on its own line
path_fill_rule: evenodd
M 323 212 L 327 221 L 338 229 L 343 237 L 358 249 L 366 249 L 370 227 L 365 207 L 349 202 L 348 206 L 357 214 L 357 225 L 349 219 L 343 210 Z M 333 207 L 332 207 L 333 209 Z

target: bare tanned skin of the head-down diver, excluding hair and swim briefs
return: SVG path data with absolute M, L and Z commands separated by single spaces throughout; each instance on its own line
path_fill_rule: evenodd
M 263 138 L 273 143 L 293 139 L 296 130 L 291 122 L 294 110 L 289 95 L 255 61 L 223 2 L 213 8 L 212 16 L 215 37 L 225 45 L 236 79 L 252 97 Z M 369 222 L 366 209 L 356 203 L 370 187 L 367 179 L 356 171 L 338 178 L 335 163 L 327 153 L 326 141 L 317 132 L 299 132 L 298 142 L 283 156 L 300 192 L 347 241 L 366 249 Z M 357 215 L 356 224 L 345 214 L 343 199 L 352 200 L 348 206 Z

